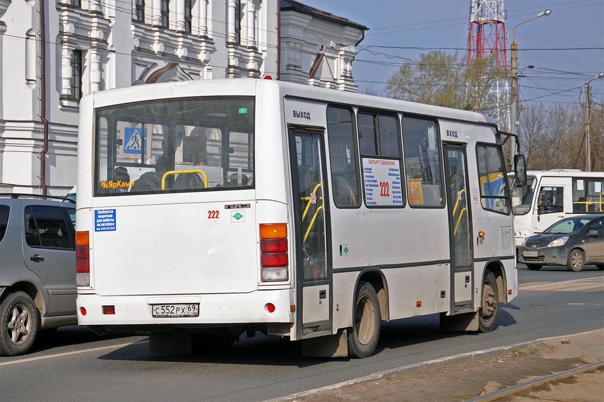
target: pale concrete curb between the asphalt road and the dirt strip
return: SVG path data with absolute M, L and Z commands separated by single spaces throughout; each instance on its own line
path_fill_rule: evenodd
M 555 338 L 559 338 L 559 337 L 555 337 Z M 546 339 L 548 339 L 548 338 L 546 338 Z M 511 351 L 520 350 L 522 348 L 527 347 L 528 345 L 537 344 L 543 340 L 544 339 L 536 339 L 535 341 L 522 342 L 520 344 L 514 344 L 514 345 L 503 346 L 503 347 L 492 348 L 492 349 L 478 350 L 478 351 L 469 352 L 469 353 L 454 354 L 453 356 L 443 357 L 442 359 L 428 360 L 426 362 L 414 363 L 414 364 L 407 365 L 407 366 L 402 366 L 402 367 L 397 367 L 397 368 L 393 368 L 393 369 L 389 369 L 389 370 L 374 372 L 373 374 L 365 375 L 365 377 L 355 378 L 354 380 L 348 380 L 348 381 L 344 381 L 344 382 L 333 384 L 333 385 L 327 385 L 327 386 L 324 386 L 321 388 L 310 389 L 309 391 L 298 392 L 297 394 L 286 395 L 284 397 L 269 399 L 269 400 L 266 400 L 263 402 L 285 402 L 285 401 L 293 400 L 295 398 L 304 397 L 306 395 L 315 394 L 316 392 L 326 391 L 327 389 L 342 388 L 347 385 L 362 383 L 362 382 L 365 382 L 368 380 L 377 380 L 379 378 L 386 377 L 387 375 L 395 374 L 395 373 L 411 375 L 416 372 L 424 371 L 424 370 L 442 368 L 445 366 L 462 365 L 464 363 L 469 363 L 469 362 L 477 362 L 480 360 L 490 359 L 491 357 L 504 356 L 505 354 L 507 354 Z

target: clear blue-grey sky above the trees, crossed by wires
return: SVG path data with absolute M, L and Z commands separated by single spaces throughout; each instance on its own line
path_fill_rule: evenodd
M 359 92 L 371 86 L 385 96 L 385 81 L 400 63 L 405 58 L 417 60 L 431 49 L 458 49 L 467 55 L 471 0 L 300 1 L 369 28 L 352 63 Z M 585 83 L 604 72 L 604 0 L 504 0 L 504 9 L 508 66 L 514 27 L 551 10 L 549 16 L 516 28 L 518 69 L 535 66 L 522 72 L 520 101 L 546 106 L 583 102 Z M 602 102 L 604 78 L 590 87 L 592 99 Z

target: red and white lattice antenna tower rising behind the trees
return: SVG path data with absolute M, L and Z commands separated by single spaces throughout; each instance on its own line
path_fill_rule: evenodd
M 467 69 L 480 58 L 492 57 L 492 63 L 507 74 L 506 11 L 503 0 L 471 0 L 470 24 L 467 34 Z M 495 97 L 492 111 L 500 128 L 510 127 L 509 84 L 500 77 L 490 89 Z

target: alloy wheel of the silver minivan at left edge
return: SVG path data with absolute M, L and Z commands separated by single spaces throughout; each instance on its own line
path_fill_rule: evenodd
M 39 311 L 25 292 L 14 292 L 0 304 L 0 356 L 27 353 L 33 345 L 40 321 Z

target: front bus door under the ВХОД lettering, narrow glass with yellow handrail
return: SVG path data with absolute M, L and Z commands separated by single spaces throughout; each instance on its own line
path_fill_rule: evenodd
M 472 216 L 467 190 L 466 148 L 443 146 L 451 245 L 451 297 L 449 312 L 471 312 L 474 306 L 474 249 Z

